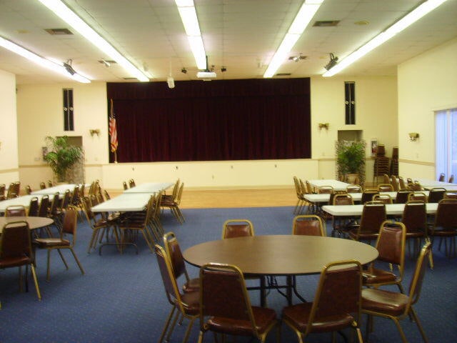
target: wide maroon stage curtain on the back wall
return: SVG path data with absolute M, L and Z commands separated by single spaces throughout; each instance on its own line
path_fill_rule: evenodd
M 175 84 L 107 84 L 117 161 L 311 158 L 308 78 Z

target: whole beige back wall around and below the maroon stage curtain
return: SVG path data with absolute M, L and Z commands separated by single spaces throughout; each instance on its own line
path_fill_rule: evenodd
M 344 81 L 356 81 L 357 125 L 344 125 Z M 124 180 L 136 182 L 174 181 L 187 187 L 291 187 L 292 177 L 334 178 L 334 145 L 338 129 L 363 130 L 363 139 L 377 137 L 388 154 L 397 144 L 396 77 L 352 77 L 311 79 L 312 159 L 267 161 L 201 161 L 141 164 L 109 164 L 106 84 L 50 84 L 18 87 L 19 165 L 23 184 L 38 187 L 52 178 L 41 159 L 44 137 L 63 135 L 62 89 L 74 89 L 75 131 L 82 136 L 86 151 L 86 182 L 100 179 L 106 189 L 120 189 Z M 382 104 L 382 106 L 380 105 Z M 330 129 L 319 130 L 318 122 Z M 91 136 L 89 129 L 100 129 Z M 122 144 L 122 142 L 120 142 Z M 367 151 L 369 156 L 369 151 Z M 373 164 L 367 162 L 367 179 Z

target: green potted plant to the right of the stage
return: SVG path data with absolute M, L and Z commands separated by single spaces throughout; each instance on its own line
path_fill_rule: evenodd
M 337 141 L 336 166 L 338 179 L 357 174 L 360 184 L 365 181 L 365 141 Z

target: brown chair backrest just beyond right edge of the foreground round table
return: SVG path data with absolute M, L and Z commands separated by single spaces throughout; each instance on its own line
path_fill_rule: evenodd
M 405 262 L 406 226 L 401 222 L 386 220 L 381 224 L 376 249 L 378 261 L 398 265 L 403 276 Z

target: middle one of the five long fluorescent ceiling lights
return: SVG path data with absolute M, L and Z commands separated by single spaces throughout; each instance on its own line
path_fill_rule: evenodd
M 206 51 L 203 39 L 201 39 L 199 19 L 195 11 L 194 0 L 175 0 L 175 3 L 178 6 L 179 15 L 186 30 L 197 68 L 206 69 Z

